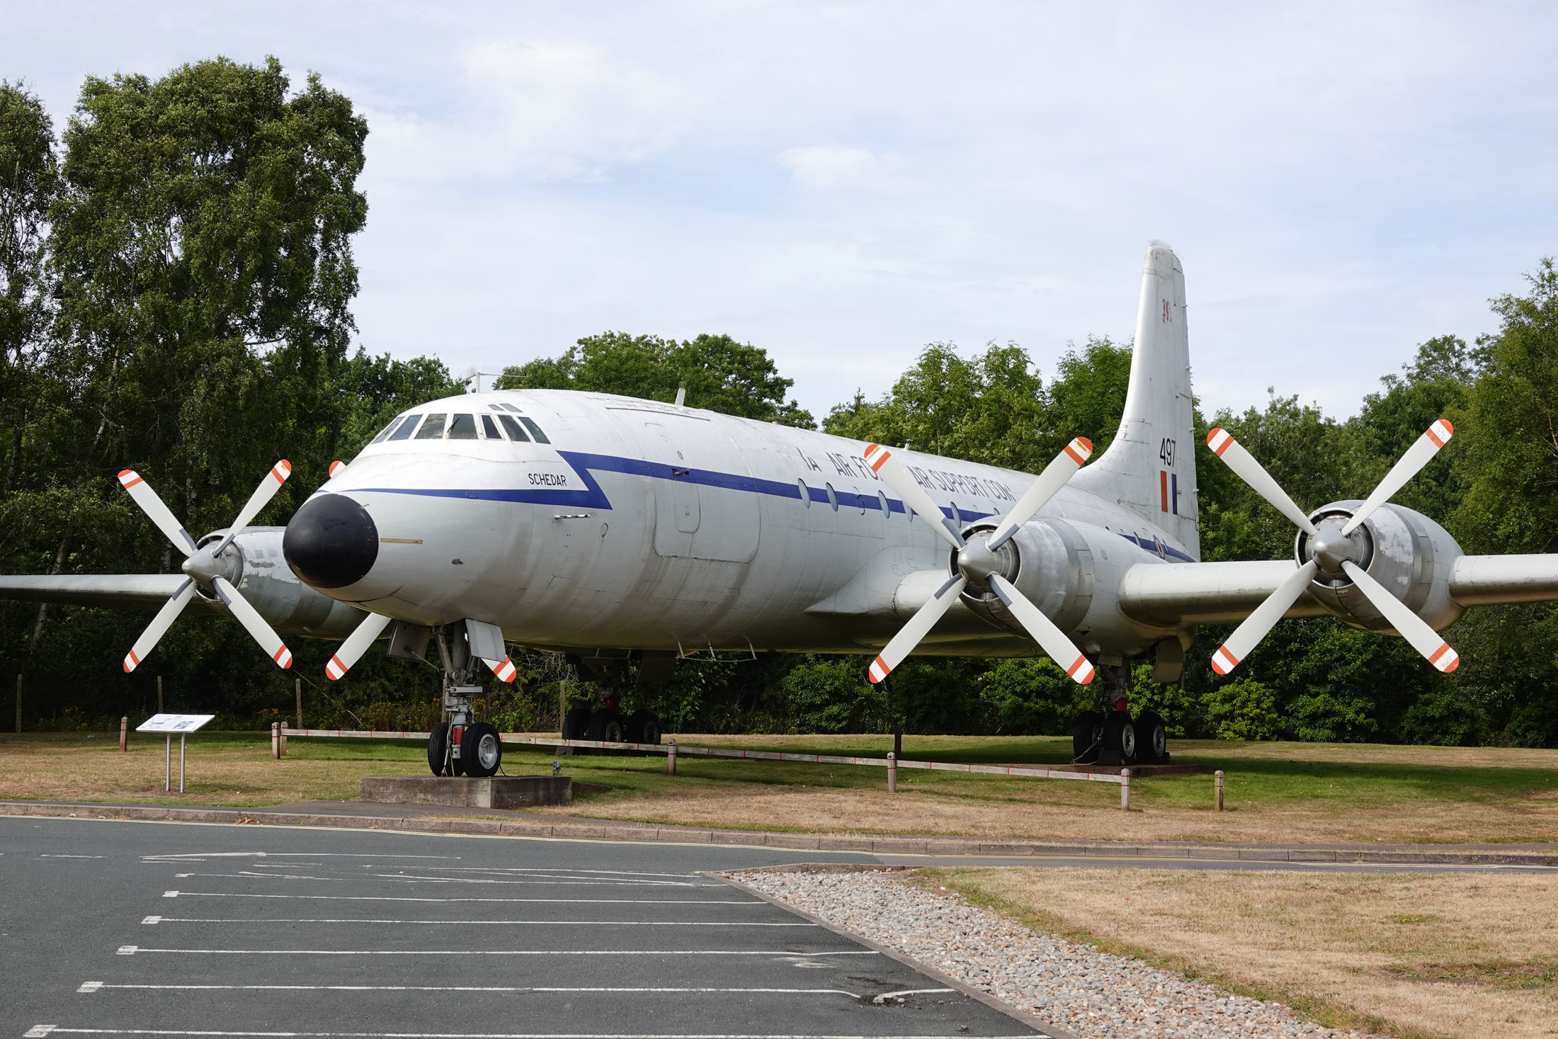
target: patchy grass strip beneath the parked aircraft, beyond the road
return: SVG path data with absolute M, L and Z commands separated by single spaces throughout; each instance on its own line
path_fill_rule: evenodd
M 882 755 L 890 737 L 709 737 L 684 745 L 740 745 Z M 908 737 L 905 757 L 1053 762 L 1069 741 L 1049 737 Z M 561 808 L 580 816 L 869 833 L 1036 840 L 1173 840 L 1271 843 L 1549 843 L 1558 841 L 1558 752 L 1500 748 L 1401 748 L 1301 743 L 1175 745 L 1179 760 L 1228 771 L 1229 812 L 1214 813 L 1212 777 L 1154 777 L 1133 787 L 1070 780 L 899 771 L 888 794 L 880 768 L 682 755 L 678 776 L 661 757 L 562 759 L 569 774 L 609 793 Z M 550 766 L 550 751 L 509 748 L 505 768 Z M 363 776 L 421 773 L 416 743 L 291 740 L 270 757 L 268 734 L 199 734 L 190 740 L 189 793 L 162 791 L 162 743 L 112 734 L 0 735 L 0 798 L 132 801 L 259 807 L 351 799 Z M 553 812 L 558 808 L 552 808 Z

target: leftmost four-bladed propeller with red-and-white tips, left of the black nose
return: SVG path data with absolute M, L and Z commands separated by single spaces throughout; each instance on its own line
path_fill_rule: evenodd
M 227 536 L 221 539 L 220 544 L 210 548 L 196 548 L 195 539 L 190 533 L 173 519 L 173 512 L 168 506 L 162 503 L 157 492 L 151 489 L 145 480 L 140 478 L 132 469 L 125 469 L 118 474 L 118 483 L 129 492 L 129 497 L 140 506 L 140 511 L 156 523 L 157 530 L 167 536 L 173 547 L 184 553 L 182 570 L 189 579 L 179 586 L 157 615 L 151 618 L 146 629 L 140 632 L 136 639 L 136 645 L 131 646 L 129 653 L 125 656 L 125 670 L 134 671 L 146 654 L 157 645 L 173 622 L 178 620 L 184 608 L 189 606 L 190 598 L 195 595 L 195 586 L 209 587 L 217 598 L 223 601 L 240 625 L 243 625 L 254 640 L 260 643 L 279 667 L 291 667 L 291 650 L 282 642 L 282 637 L 276 634 L 276 629 L 266 623 L 260 612 L 254 609 L 246 598 L 232 586 L 232 583 L 224 576 L 227 572 L 227 564 L 223 562 L 221 553 L 227 550 L 232 539 L 243 533 L 260 509 L 263 509 L 284 483 L 287 477 L 291 475 L 291 464 L 284 458 L 282 461 L 271 466 L 271 470 L 260 480 L 260 486 L 254 489 L 249 495 L 248 503 L 238 511 L 238 517 L 232 523 L 232 530 Z

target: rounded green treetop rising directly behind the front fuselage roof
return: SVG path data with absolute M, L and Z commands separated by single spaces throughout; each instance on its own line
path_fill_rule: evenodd
M 785 400 L 793 379 L 779 375 L 768 352 L 728 335 L 662 340 L 653 335 L 603 332 L 580 340 L 558 357 L 513 365 L 495 389 L 587 389 L 643 400 L 676 399 L 746 419 L 813 428 L 816 422 L 795 400 Z

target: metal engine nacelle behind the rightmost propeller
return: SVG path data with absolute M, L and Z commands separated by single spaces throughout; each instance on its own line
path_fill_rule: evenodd
M 1340 527 L 1362 505 L 1360 500 L 1332 502 L 1315 509 L 1309 519 L 1321 531 L 1320 542 L 1298 533 L 1293 555 L 1299 565 L 1310 559 L 1320 562 L 1310 595 L 1354 628 L 1394 631 L 1335 564 L 1348 558 L 1435 631 L 1452 625 L 1461 615 L 1461 606 L 1450 598 L 1450 572 L 1461 556 L 1455 539 L 1422 512 L 1399 505 L 1382 505 L 1352 534 L 1340 539 Z

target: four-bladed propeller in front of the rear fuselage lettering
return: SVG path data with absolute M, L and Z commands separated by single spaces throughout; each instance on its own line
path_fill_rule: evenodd
M 1044 612 L 1028 601 L 1028 598 L 1017 590 L 1011 581 L 1000 575 L 1003 561 L 997 556 L 997 551 L 1011 541 L 1011 536 L 1022 528 L 1033 516 L 1044 508 L 1055 494 L 1066 486 L 1066 481 L 1081 469 L 1083 463 L 1092 455 L 1092 444 L 1078 436 L 1070 444 L 1055 456 L 1044 472 L 1038 475 L 1033 484 L 1017 498 L 1017 503 L 1011 506 L 1000 523 L 996 525 L 989 534 L 978 533 L 974 534 L 971 541 L 964 541 L 963 533 L 958 530 L 957 523 L 947 519 L 941 506 L 935 503 L 930 494 L 919 486 L 919 481 L 904 467 L 904 463 L 893 455 L 888 449 L 880 444 L 869 444 L 865 450 L 866 464 L 882 478 L 888 488 L 893 489 L 897 497 L 904 500 L 915 514 L 930 525 L 936 534 L 946 541 L 955 551 L 957 576 L 947 579 L 936 593 L 925 600 L 925 604 L 915 611 L 915 615 L 908 618 L 896 636 L 883 646 L 877 659 L 871 662 L 871 681 L 880 682 L 893 668 L 904 662 L 904 659 L 915 651 L 915 646 L 930 634 L 930 629 L 936 626 L 952 604 L 963 593 L 963 589 L 974 584 L 980 590 L 994 592 L 996 598 L 1011 611 L 1017 623 L 1022 625 L 1024 631 L 1039 643 L 1039 646 L 1055 659 L 1056 664 L 1066 668 L 1073 681 L 1086 685 L 1094 678 L 1094 667 L 1087 657 L 1077 648 L 1077 645 L 1066 637 L 1066 634 L 1055 626 Z

